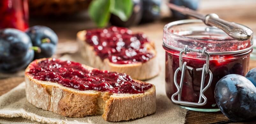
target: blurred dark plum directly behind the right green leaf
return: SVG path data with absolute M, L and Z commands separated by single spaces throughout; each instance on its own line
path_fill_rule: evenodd
M 139 24 L 143 13 L 142 0 L 133 0 L 133 12 L 127 21 L 122 21 L 118 16 L 111 15 L 110 22 L 113 26 L 129 27 Z

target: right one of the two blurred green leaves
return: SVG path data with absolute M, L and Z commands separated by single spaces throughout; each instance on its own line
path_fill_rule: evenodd
M 118 16 L 122 21 L 127 21 L 133 10 L 132 0 L 111 0 L 110 12 Z

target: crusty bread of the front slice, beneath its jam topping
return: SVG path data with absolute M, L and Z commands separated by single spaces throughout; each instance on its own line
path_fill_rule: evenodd
M 31 64 L 45 60 L 39 59 Z M 34 79 L 25 72 L 26 98 L 32 105 L 66 117 L 102 115 L 107 121 L 141 118 L 156 111 L 156 88 L 154 85 L 144 93 L 111 93 L 103 91 L 80 91 L 61 84 Z M 92 67 L 83 65 L 85 69 Z M 137 82 L 142 82 L 135 80 Z M 145 82 L 142 82 L 145 83 Z

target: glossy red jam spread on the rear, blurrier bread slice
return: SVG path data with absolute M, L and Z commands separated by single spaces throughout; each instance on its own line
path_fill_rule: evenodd
M 123 27 L 112 26 L 107 29 L 87 30 L 86 42 L 94 47 L 102 59 L 108 58 L 116 64 L 146 62 L 153 57 L 144 46 L 149 43 L 142 33 L 132 33 Z

